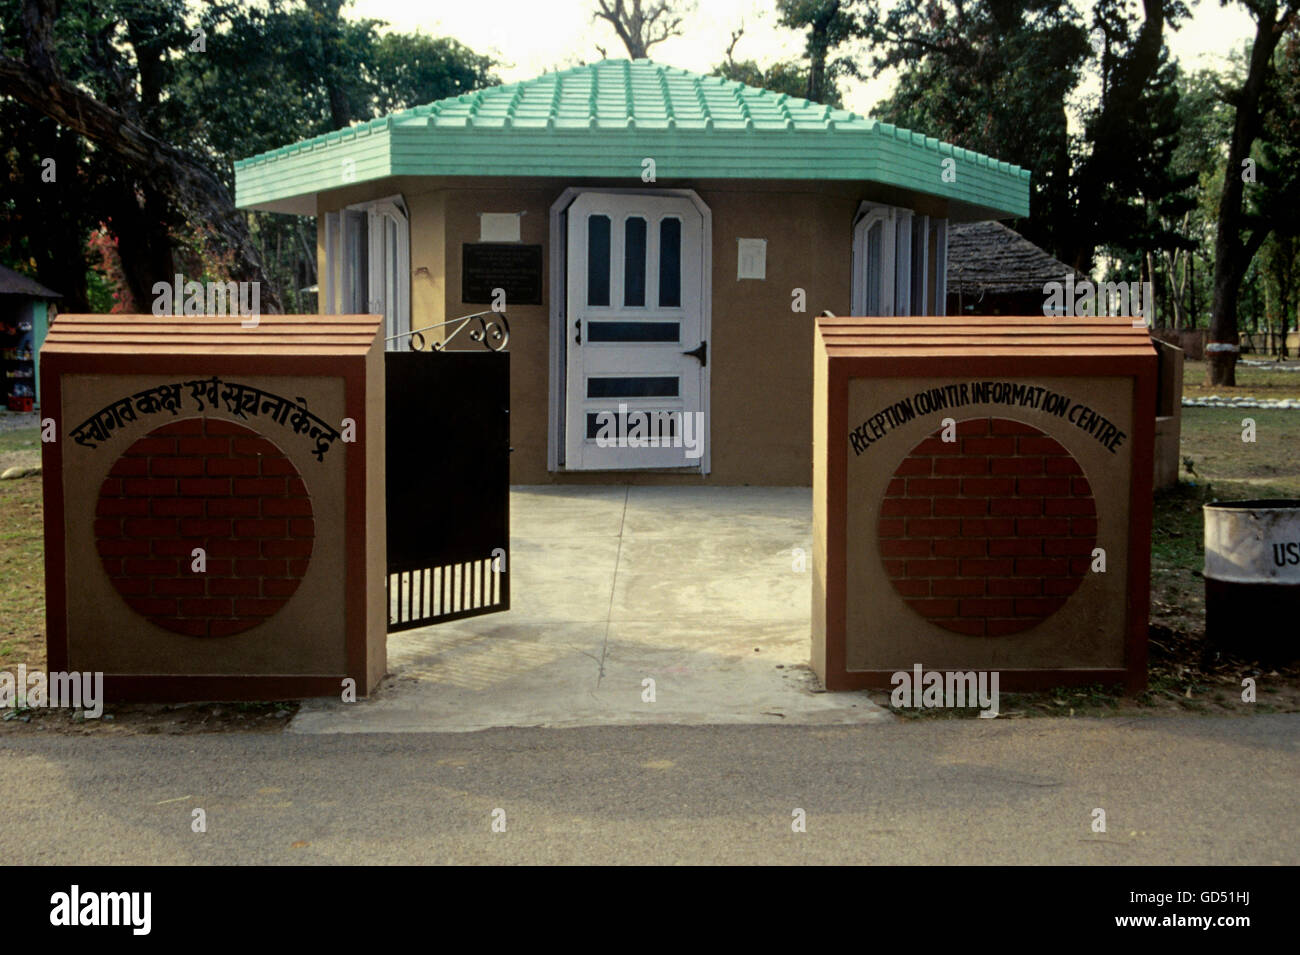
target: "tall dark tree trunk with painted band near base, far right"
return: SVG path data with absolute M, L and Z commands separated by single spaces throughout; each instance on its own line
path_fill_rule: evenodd
M 1240 0 L 1254 18 L 1254 43 L 1244 82 L 1228 91 L 1234 108 L 1232 135 L 1228 139 L 1223 191 L 1214 234 L 1214 292 L 1210 304 L 1210 348 L 1208 385 L 1236 385 L 1238 294 L 1256 252 L 1269 236 L 1268 218 L 1252 217 L 1244 204 L 1247 179 L 1254 160 L 1251 151 L 1265 118 L 1268 90 L 1275 82 L 1274 52 L 1283 34 L 1295 22 L 1295 6 L 1279 6 L 1278 0 Z M 1257 174 L 1256 177 L 1257 178 Z M 1282 210 L 1274 209 L 1274 216 Z M 1286 210 L 1290 213 L 1290 210 Z

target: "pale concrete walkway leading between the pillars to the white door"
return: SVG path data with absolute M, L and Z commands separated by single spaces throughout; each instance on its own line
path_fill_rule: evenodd
M 510 505 L 512 609 L 390 635 L 380 693 L 304 704 L 291 732 L 892 719 L 807 668 L 809 489 L 516 487 Z

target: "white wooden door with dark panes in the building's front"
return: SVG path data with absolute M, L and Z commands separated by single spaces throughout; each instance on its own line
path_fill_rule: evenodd
M 699 466 L 710 356 L 703 217 L 685 197 L 568 209 L 566 468 Z

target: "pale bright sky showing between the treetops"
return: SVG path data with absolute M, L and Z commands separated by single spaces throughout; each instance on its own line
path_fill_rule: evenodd
M 1075 0 L 1080 9 L 1091 3 Z M 1175 32 L 1166 30 L 1166 43 L 1184 68 L 1219 66 L 1223 56 L 1253 35 L 1253 21 L 1240 4 L 1221 6 L 1219 0 L 1188 0 L 1191 19 Z M 530 79 L 546 69 L 567 68 L 598 60 L 597 45 L 611 57 L 625 56 L 623 44 L 604 21 L 594 22 L 595 0 L 355 0 L 352 17 L 373 17 L 403 32 L 420 30 L 434 36 L 454 36 L 478 53 L 500 61 L 497 73 L 510 83 Z M 803 49 L 800 32 L 777 26 L 775 0 L 697 0 L 684 22 L 685 35 L 655 45 L 650 56 L 659 62 L 710 73 L 724 58 L 731 34 L 745 34 L 736 45 L 736 58 L 768 65 L 797 57 Z M 844 104 L 866 114 L 889 95 L 889 74 L 844 86 Z

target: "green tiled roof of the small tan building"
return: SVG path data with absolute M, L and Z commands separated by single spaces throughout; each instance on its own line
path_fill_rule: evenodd
M 252 207 L 391 175 L 872 181 L 1028 214 L 1030 173 L 809 100 L 650 60 L 494 86 L 235 162 Z M 945 182 L 946 168 L 954 174 Z

